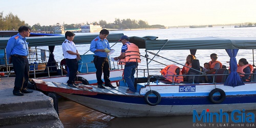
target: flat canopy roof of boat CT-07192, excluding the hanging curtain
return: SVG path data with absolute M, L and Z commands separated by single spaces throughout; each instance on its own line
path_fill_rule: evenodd
M 153 37 L 132 36 L 130 42 L 147 50 L 256 49 L 256 37 L 197 37 L 162 40 Z

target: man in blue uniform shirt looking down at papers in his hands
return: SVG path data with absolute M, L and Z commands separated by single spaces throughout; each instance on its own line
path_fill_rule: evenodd
M 110 81 L 110 66 L 109 66 L 109 59 L 108 53 L 106 53 L 105 49 L 110 49 L 110 44 L 106 37 L 109 35 L 109 30 L 102 29 L 99 32 L 99 36 L 91 41 L 90 51 L 93 52 L 94 59 L 93 63 L 96 68 L 96 78 L 98 88 L 105 89 L 105 87 L 116 88 L 112 86 Z M 103 78 L 105 81 L 105 87 L 102 85 L 103 81 L 101 80 L 103 71 Z

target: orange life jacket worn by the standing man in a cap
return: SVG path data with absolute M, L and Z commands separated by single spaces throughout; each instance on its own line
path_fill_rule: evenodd
M 120 59 L 118 64 L 125 65 L 127 62 L 140 62 L 140 50 L 138 46 L 133 43 L 126 43 L 127 50 L 125 51 L 125 56 L 123 59 Z M 121 53 L 122 54 L 122 53 Z

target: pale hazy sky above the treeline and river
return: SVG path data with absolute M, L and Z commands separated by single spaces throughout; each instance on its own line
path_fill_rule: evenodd
M 181 26 L 256 23 L 256 1 L 246 0 L 0 0 L 0 12 L 12 12 L 33 26 L 76 24 L 115 18 L 149 25 Z

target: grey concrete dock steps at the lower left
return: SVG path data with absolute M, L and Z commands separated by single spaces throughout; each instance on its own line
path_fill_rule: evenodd
M 0 79 L 0 127 L 63 127 L 51 97 L 35 90 L 14 96 L 15 77 Z

